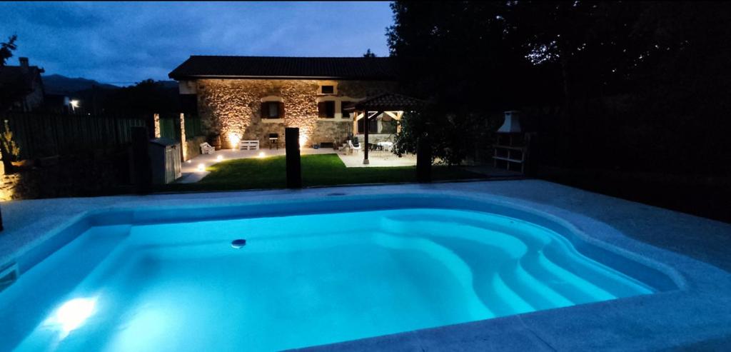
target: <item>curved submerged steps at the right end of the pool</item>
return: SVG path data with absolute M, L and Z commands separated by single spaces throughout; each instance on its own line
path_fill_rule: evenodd
M 607 272 L 607 268 L 602 267 L 601 264 L 583 257 L 575 250 L 566 248 L 566 244 L 558 243 L 560 240 L 550 239 L 545 241 L 526 238 L 521 231 L 511 231 L 516 233 L 510 234 L 500 233 L 496 232 L 493 222 L 485 222 L 484 225 L 487 225 L 488 228 L 481 228 L 474 226 L 474 222 L 473 225 L 463 225 L 463 220 L 465 219 L 456 217 L 440 218 L 438 220 L 433 220 L 433 217 L 430 220 L 387 218 L 382 222 L 382 225 L 390 233 L 404 233 L 408 228 L 427 228 L 429 229 L 428 233 L 410 233 L 409 236 L 435 239 L 437 243 L 445 247 L 450 247 L 450 244 L 445 243 L 444 240 L 439 241 L 439 237 L 453 241 L 455 238 L 461 237 L 460 233 L 469 233 L 469 239 L 474 245 L 488 247 L 492 245 L 494 247 L 496 237 L 505 236 L 505 239 L 512 238 L 523 241 L 523 248 L 532 247 L 532 250 L 526 250 L 518 257 L 513 253 L 512 261 L 506 261 L 502 264 L 498 271 L 499 274 L 491 280 L 491 290 L 480 290 L 477 288 L 480 282 L 475 282 L 476 287 L 474 289 L 478 292 L 478 296 L 490 296 L 485 301 L 492 302 L 492 306 L 489 308 L 496 311 L 498 316 L 634 296 L 637 292 L 652 292 L 644 285 L 638 285 L 634 280 L 615 277 L 615 272 L 612 270 Z M 440 229 L 441 226 L 444 226 L 444 223 L 448 223 L 452 231 L 455 230 L 455 227 L 461 231 L 459 233 L 444 233 L 440 231 L 444 230 Z M 458 225 L 455 225 L 455 223 Z M 523 233 L 523 235 L 518 236 L 518 233 Z M 475 236 L 476 234 L 478 236 Z M 536 244 L 542 245 L 536 247 Z M 515 247 L 515 244 L 508 245 L 504 250 L 507 250 L 507 248 L 514 249 Z M 488 251 L 482 250 L 482 252 Z M 567 255 L 569 257 L 580 255 L 583 258 L 580 261 L 574 261 L 567 258 Z M 485 265 L 485 263 L 480 263 L 480 257 L 474 258 L 473 256 L 469 258 L 472 262 L 469 260 L 466 260 L 466 262 L 471 270 L 475 272 L 479 271 L 480 266 Z M 477 275 L 474 276 L 477 277 Z M 538 280 L 537 277 L 549 277 L 550 280 L 542 281 Z M 609 278 L 614 285 L 607 285 L 606 283 L 602 285 L 602 283 L 594 280 L 597 277 L 604 280 Z M 484 282 L 481 283 L 484 285 Z M 496 302 L 499 302 L 499 304 L 496 304 Z

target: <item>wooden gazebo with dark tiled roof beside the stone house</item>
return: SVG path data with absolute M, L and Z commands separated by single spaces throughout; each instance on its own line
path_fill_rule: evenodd
M 414 111 L 417 108 L 426 105 L 424 100 L 419 100 L 413 97 L 406 97 L 405 95 L 395 93 L 384 93 L 376 95 L 375 97 L 366 98 L 361 100 L 348 108 L 345 111 L 355 112 L 355 124 L 360 119 L 363 121 L 363 164 L 368 165 L 368 124 L 371 119 L 376 119 L 377 116 L 384 113 L 395 120 L 401 120 L 401 116 L 404 116 L 404 111 Z

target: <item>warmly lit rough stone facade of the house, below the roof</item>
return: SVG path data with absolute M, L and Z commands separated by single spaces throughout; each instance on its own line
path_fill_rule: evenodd
M 329 81 L 328 81 L 329 82 Z M 197 80 L 198 109 L 206 135 L 221 135 L 225 148 L 236 138 L 257 139 L 266 145 L 270 133 L 284 141 L 285 127 L 299 127 L 303 143 L 341 141 L 352 132 L 352 119 L 326 121 L 317 118 L 319 80 Z M 363 99 L 393 91 L 395 83 L 383 81 L 337 81 L 338 97 Z M 262 99 L 281 99 L 284 119 L 261 118 Z

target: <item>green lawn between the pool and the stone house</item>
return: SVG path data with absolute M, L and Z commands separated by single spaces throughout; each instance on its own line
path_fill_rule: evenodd
M 162 190 L 251 190 L 284 188 L 287 182 L 284 156 L 238 159 L 219 162 L 207 170 L 208 176 L 194 184 L 169 184 Z M 434 180 L 478 179 L 462 168 L 434 166 Z M 416 181 L 416 167 L 346 168 L 337 154 L 302 156 L 303 186 L 373 184 Z

